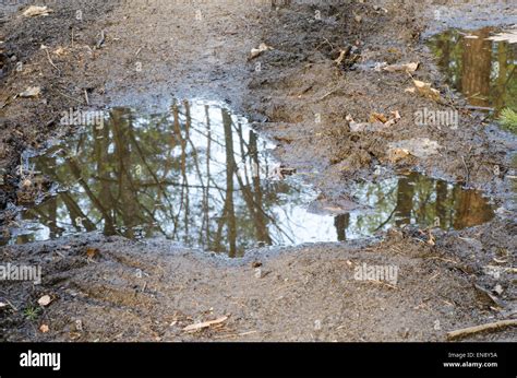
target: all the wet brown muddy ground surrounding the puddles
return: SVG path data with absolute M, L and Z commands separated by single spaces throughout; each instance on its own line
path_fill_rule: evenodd
M 444 341 L 448 331 L 515 317 L 517 225 L 506 177 L 515 175 L 515 138 L 462 108 L 465 99 L 445 87 L 423 44 L 450 26 L 516 23 L 510 2 L 278 4 L 51 1 L 55 12 L 31 19 L 21 15 L 25 5 L 2 5 L 2 220 L 20 192 L 20 154 L 72 131 L 59 125 L 63 110 L 167 109 L 173 97 L 218 99 L 249 116 L 278 143 L 277 157 L 305 173 L 327 202 L 346 199 L 353 180 L 417 168 L 485 190 L 497 216 L 462 232 L 432 231 L 434 243 L 429 232 L 394 229 L 371 240 L 251 250 L 232 260 L 165 240 L 99 235 L 3 247 L 1 261 L 41 264 L 44 280 L 1 284 L 0 302 L 8 304 L 0 308 L 1 340 Z M 443 7 L 448 11 L 435 20 Z M 274 49 L 249 60 L 261 43 Z M 351 56 L 337 66 L 347 47 Z M 359 67 L 350 69 L 351 60 Z M 431 82 L 443 103 L 405 92 L 407 73 L 368 64 L 383 61 L 419 61 L 413 78 Z M 33 85 L 43 88 L 37 98 L 15 96 Z M 460 127 L 416 126 L 412 115 L 424 107 L 460 109 Z M 381 134 L 352 133 L 346 120 L 395 110 L 401 119 Z M 416 137 L 436 141 L 440 153 L 390 157 L 389 143 Z M 399 267 L 397 284 L 354 280 L 363 263 Z M 501 294 L 492 292 L 496 284 Z M 27 317 L 43 295 L 52 303 Z M 183 331 L 223 316 L 228 319 L 216 327 Z M 467 340 L 515 339 L 516 330 L 506 329 Z

